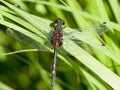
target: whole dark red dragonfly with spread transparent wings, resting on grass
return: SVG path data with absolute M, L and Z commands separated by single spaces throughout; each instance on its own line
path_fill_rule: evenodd
M 108 31 L 108 27 L 106 24 L 107 24 L 106 22 L 103 22 L 102 24 L 96 24 L 88 28 L 63 29 L 62 25 L 64 25 L 64 20 L 58 18 L 54 22 L 55 25 L 54 29 L 50 33 L 44 33 L 46 36 L 45 38 L 36 34 L 36 37 L 41 38 L 44 41 L 44 44 L 40 43 L 38 40 L 33 40 L 32 38 L 24 35 L 23 33 L 17 32 L 11 28 L 7 29 L 7 33 L 10 36 L 14 37 L 15 39 L 22 41 L 25 44 L 28 44 L 34 48 L 37 48 L 39 51 L 48 51 L 49 50 L 48 48 L 54 48 L 54 59 L 52 64 L 52 75 L 51 75 L 51 86 L 53 87 L 55 81 L 55 75 L 56 75 L 57 49 L 64 44 L 72 45 L 69 41 L 72 41 L 76 44 L 79 43 L 80 45 L 81 45 L 80 41 L 83 41 L 89 45 L 98 45 L 98 46 L 104 45 L 103 42 L 99 42 L 95 37 L 96 35 L 101 35 L 102 33 Z M 94 40 L 96 40 L 97 42 L 94 43 L 93 42 Z

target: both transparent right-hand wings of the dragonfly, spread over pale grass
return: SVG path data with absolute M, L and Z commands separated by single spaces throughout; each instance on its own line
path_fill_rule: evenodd
M 106 23 L 104 22 L 103 24 L 96 24 L 91 27 L 83 28 L 80 30 L 82 31 L 79 31 L 78 29 L 70 29 L 70 28 L 65 29 L 63 36 L 64 37 L 63 43 L 70 44 L 68 41 L 69 39 L 71 39 L 80 46 L 85 43 L 89 45 L 101 46 L 104 44 L 104 42 L 99 37 L 99 35 L 102 35 L 104 32 L 108 31 L 109 29 Z

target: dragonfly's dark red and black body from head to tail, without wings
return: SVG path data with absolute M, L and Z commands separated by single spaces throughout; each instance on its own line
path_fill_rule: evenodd
M 51 44 L 54 46 L 54 58 L 52 63 L 52 75 L 51 75 L 51 86 L 54 86 L 55 76 L 56 76 L 56 56 L 57 49 L 62 45 L 62 36 L 63 30 L 62 25 L 64 25 L 64 21 L 60 18 L 56 19 L 54 22 L 54 31 L 52 32 Z

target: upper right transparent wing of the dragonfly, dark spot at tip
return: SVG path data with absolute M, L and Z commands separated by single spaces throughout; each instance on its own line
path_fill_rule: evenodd
M 72 35 L 75 38 L 76 37 L 79 38 L 80 35 L 85 35 L 85 34 L 87 35 L 88 33 L 97 33 L 98 35 L 102 35 L 103 33 L 107 32 L 108 30 L 109 30 L 109 28 L 108 28 L 107 23 L 103 22 L 102 24 L 96 24 L 96 25 L 92 25 L 90 27 L 85 27 L 85 28 L 76 28 L 76 29 L 66 28 L 64 31 L 64 35 L 66 35 L 66 36 Z

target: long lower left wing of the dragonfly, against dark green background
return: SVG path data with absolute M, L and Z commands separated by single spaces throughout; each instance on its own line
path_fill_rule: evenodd
M 18 32 L 18 31 L 13 30 L 12 28 L 8 28 L 6 32 L 8 35 L 12 36 L 13 38 L 17 39 L 18 41 L 21 41 L 33 48 L 39 49 L 39 51 L 47 51 L 47 49 L 42 44 L 38 43 L 37 41 L 33 40 L 32 38 Z

